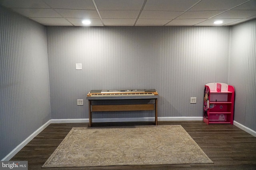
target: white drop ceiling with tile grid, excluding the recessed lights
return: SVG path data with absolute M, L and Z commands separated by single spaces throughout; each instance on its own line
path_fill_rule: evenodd
M 212 26 L 256 18 L 256 0 L 0 0 L 0 4 L 43 25 Z

